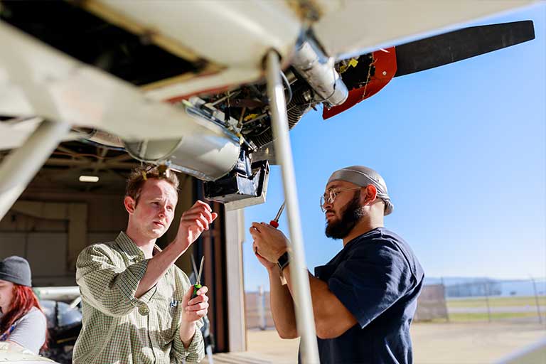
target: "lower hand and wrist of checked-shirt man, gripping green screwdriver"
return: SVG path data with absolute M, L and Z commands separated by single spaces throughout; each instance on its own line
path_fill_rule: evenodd
M 182 299 L 181 304 L 183 311 L 180 321 L 180 338 L 186 348 L 188 348 L 193 339 L 193 335 L 196 333 L 196 321 L 207 316 L 207 292 L 208 288 L 203 286 L 198 289 L 196 298 L 191 299 L 191 294 L 193 294 L 193 286 L 191 286 Z

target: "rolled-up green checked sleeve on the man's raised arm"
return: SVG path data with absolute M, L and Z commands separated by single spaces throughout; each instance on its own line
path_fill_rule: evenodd
M 139 282 L 146 273 L 148 260 L 120 267 L 105 245 L 82 250 L 76 263 L 76 282 L 82 297 L 107 316 L 124 316 L 135 307 L 148 303 L 154 288 L 137 299 Z

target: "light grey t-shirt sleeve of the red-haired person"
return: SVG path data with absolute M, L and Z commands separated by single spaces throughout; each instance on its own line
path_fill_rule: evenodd
M 45 342 L 46 327 L 45 316 L 38 310 L 32 310 L 17 323 L 8 340 L 38 354 Z

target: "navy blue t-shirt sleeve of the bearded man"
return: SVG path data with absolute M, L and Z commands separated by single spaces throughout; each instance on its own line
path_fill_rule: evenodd
M 357 247 L 328 279 L 328 288 L 357 319 L 368 325 L 412 286 L 407 261 L 381 240 Z

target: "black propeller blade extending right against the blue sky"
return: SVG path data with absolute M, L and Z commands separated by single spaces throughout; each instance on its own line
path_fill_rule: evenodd
M 532 21 L 473 26 L 397 45 L 395 77 L 428 70 L 535 38 Z

